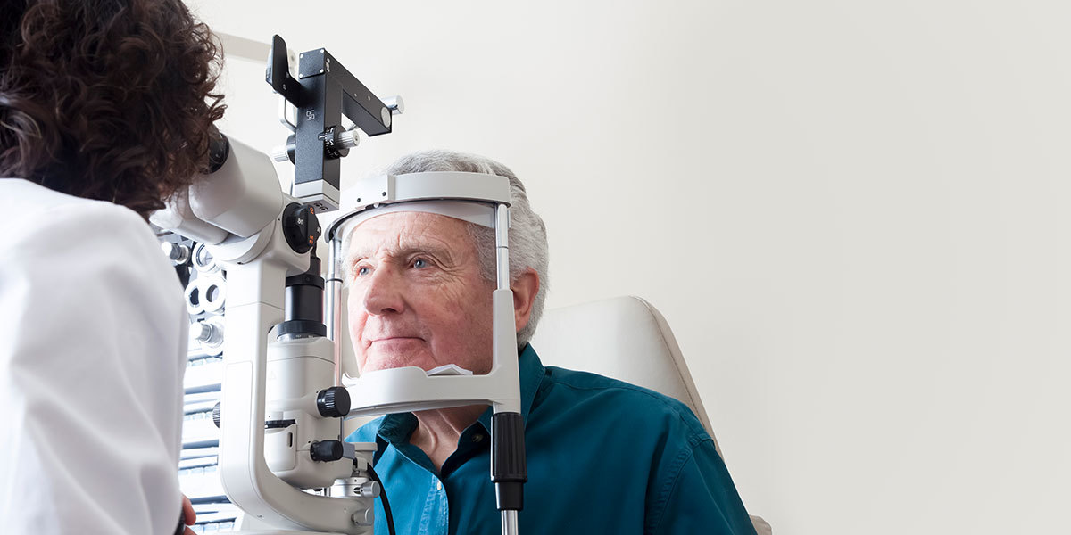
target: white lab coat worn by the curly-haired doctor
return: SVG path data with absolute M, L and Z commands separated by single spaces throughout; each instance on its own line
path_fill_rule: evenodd
M 170 535 L 188 317 L 149 225 L 0 179 L 0 533 Z

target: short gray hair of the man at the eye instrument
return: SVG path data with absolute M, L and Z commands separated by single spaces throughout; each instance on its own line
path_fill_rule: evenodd
M 517 332 L 517 348 L 523 348 L 536 334 L 536 325 L 543 315 L 543 303 L 549 278 L 547 277 L 546 226 L 528 203 L 525 185 L 509 167 L 491 158 L 453 151 L 422 151 L 402 156 L 384 173 L 405 174 L 428 171 L 463 171 L 497 174 L 510 179 L 510 280 L 514 281 L 527 269 L 539 274 L 539 293 L 532 303 L 528 324 Z M 467 223 L 469 235 L 480 259 L 483 277 L 495 282 L 495 230 Z

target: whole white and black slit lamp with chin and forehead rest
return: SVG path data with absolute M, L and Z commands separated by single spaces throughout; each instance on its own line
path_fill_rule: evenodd
M 392 116 L 404 105 L 399 97 L 377 97 L 322 48 L 301 54 L 297 66 L 295 76 L 286 43 L 275 35 L 266 81 L 278 93 L 281 120 L 290 129 L 274 157 L 293 164 L 291 189 L 280 190 L 272 157 L 221 134 L 210 151 L 210 172 L 150 218 L 196 243 L 191 262 L 210 256 L 226 277 L 222 323 L 194 327 L 198 339 L 222 350 L 213 419 L 223 488 L 244 511 L 239 533 L 372 533 L 374 522 L 383 520 L 374 518 L 373 501 L 384 498 L 390 482 L 375 473 L 374 443 L 343 440 L 343 419 L 485 403 L 495 412 L 491 477 L 502 531 L 515 534 L 527 474 L 509 286 L 509 182 L 457 172 L 369 179 L 357 186 L 355 208 L 325 233 L 318 215 L 340 207 L 340 160 L 359 143 L 358 131 L 368 137 L 391 133 Z M 344 126 L 343 116 L 352 128 Z M 469 205 L 473 217 L 495 229 L 492 370 L 473 376 L 456 367 L 406 367 L 344 385 L 343 240 L 369 211 L 433 201 Z M 329 244 L 326 279 L 316 255 L 321 233 Z M 211 289 L 201 290 L 208 303 Z

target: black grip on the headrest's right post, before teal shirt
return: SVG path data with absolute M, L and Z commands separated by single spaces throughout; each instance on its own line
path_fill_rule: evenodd
M 524 484 L 528 480 L 525 463 L 525 423 L 521 414 L 500 412 L 491 417 L 491 480 L 499 510 L 525 508 Z

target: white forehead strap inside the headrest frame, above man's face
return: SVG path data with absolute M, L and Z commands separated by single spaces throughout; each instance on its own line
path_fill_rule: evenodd
M 397 231 L 383 231 L 378 225 L 362 225 L 369 219 L 376 219 L 380 216 L 387 214 L 397 214 L 397 213 L 424 213 L 432 214 L 438 217 L 432 217 L 431 219 L 438 219 L 442 217 L 444 220 L 461 220 L 480 225 L 483 227 L 494 227 L 495 221 L 495 208 L 491 204 L 482 202 L 469 202 L 469 201 L 414 201 L 414 202 L 399 202 L 396 204 L 388 204 L 374 209 L 366 210 L 360 214 L 350 217 L 340 229 L 337 235 L 343 236 L 342 244 L 342 257 L 350 258 L 355 251 L 351 250 L 353 244 L 353 239 L 357 235 L 362 234 L 362 231 L 367 230 L 375 232 L 375 235 L 368 235 L 372 241 L 379 241 L 383 239 L 393 239 L 402 232 L 402 229 Z M 390 234 L 390 235 L 384 235 Z M 363 241 L 363 240 L 362 240 Z

